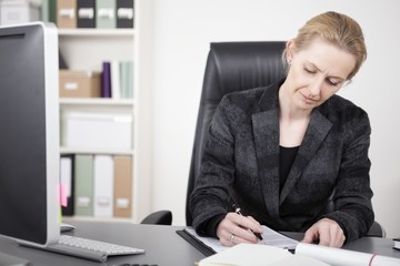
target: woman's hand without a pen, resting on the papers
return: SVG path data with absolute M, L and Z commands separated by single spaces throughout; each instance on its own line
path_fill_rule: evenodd
M 319 241 L 321 246 L 341 247 L 346 241 L 344 233 L 337 222 L 322 218 L 313 224 L 304 234 L 303 243 Z

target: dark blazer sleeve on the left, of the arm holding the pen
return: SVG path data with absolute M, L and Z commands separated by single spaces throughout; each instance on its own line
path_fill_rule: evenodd
M 200 174 L 190 197 L 192 225 L 202 235 L 210 234 L 207 225 L 213 217 L 228 213 L 229 186 L 234 176 L 233 117 L 231 102 L 223 98 L 210 123 Z

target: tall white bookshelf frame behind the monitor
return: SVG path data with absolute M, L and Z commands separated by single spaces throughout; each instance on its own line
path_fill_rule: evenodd
M 60 52 L 70 70 L 101 72 L 103 61 L 133 61 L 133 99 L 60 98 L 60 122 L 68 112 L 119 113 L 133 117 L 131 149 L 70 147 L 63 154 L 128 155 L 132 157 L 131 217 L 139 223 L 151 213 L 151 61 L 152 0 L 134 0 L 134 29 L 59 29 Z M 61 122 L 61 137 L 63 129 Z M 62 143 L 61 143 L 62 144 Z M 103 217 L 73 218 L 104 219 Z M 118 217 L 106 219 L 121 221 Z M 124 218 L 123 218 L 124 219 Z

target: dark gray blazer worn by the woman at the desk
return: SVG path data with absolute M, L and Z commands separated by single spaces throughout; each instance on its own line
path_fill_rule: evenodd
M 277 231 L 304 232 L 321 217 L 343 228 L 347 241 L 373 223 L 370 123 L 339 95 L 314 109 L 288 180 L 279 190 L 279 84 L 226 95 L 206 141 L 190 200 L 198 233 L 237 203 L 244 215 Z M 333 195 L 336 211 L 327 213 Z

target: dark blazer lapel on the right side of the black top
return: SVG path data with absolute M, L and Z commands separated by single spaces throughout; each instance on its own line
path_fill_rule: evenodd
M 289 195 L 290 191 L 296 185 L 297 180 L 318 151 L 331 127 L 332 123 L 319 111 L 314 110 L 312 112 L 304 139 L 299 147 L 299 152 L 289 172 L 288 180 L 282 188 L 280 204 L 283 203 Z

